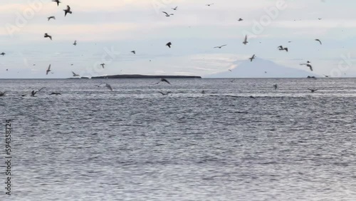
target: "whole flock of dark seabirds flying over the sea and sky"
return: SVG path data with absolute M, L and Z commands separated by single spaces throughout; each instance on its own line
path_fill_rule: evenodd
M 61 4 L 61 1 L 59 1 L 59 0 L 52 0 L 52 1 L 55 2 L 55 3 L 57 4 L 57 6 L 59 6 L 59 4 Z M 212 6 L 212 5 L 214 5 L 214 4 L 206 4 L 206 6 Z M 174 10 L 174 11 L 177 11 L 177 9 L 178 9 L 178 6 L 172 8 L 172 10 Z M 63 11 L 64 11 L 64 16 L 65 16 L 65 17 L 67 16 L 67 14 L 73 14 L 73 12 L 72 12 L 71 9 L 70 9 L 70 6 L 68 6 L 68 5 L 67 5 L 66 9 L 63 9 Z M 163 13 L 165 16 L 167 16 L 167 17 L 174 15 L 174 14 L 169 14 L 169 13 L 167 13 L 166 11 L 162 11 L 162 13 Z M 56 20 L 56 16 L 48 16 L 47 19 L 48 19 L 48 21 L 50 21 L 51 19 Z M 319 18 L 319 20 L 321 20 L 321 19 Z M 239 18 L 238 21 L 244 21 L 244 19 Z M 49 39 L 53 40 L 52 36 L 49 35 L 48 33 L 44 33 L 44 36 L 43 36 L 43 37 L 44 37 L 44 38 L 49 38 Z M 323 43 L 320 41 L 320 39 L 318 39 L 318 38 L 316 38 L 315 41 L 318 41 L 318 42 L 320 43 L 320 45 L 323 44 Z M 288 41 L 288 43 L 290 43 L 290 42 L 291 42 L 291 41 Z M 247 36 L 247 35 L 245 36 L 244 41 L 243 41 L 242 43 L 243 43 L 244 45 L 247 45 L 247 43 L 248 43 L 248 36 Z M 75 40 L 75 41 L 73 42 L 73 46 L 77 46 L 77 44 L 78 44 L 78 43 L 77 43 L 77 41 Z M 171 48 L 171 47 L 172 47 L 172 42 L 166 43 L 166 46 L 167 46 L 168 48 Z M 215 46 L 214 48 L 219 48 L 219 49 L 221 49 L 221 48 L 223 48 L 224 46 L 227 46 L 227 44 L 224 44 L 224 45 L 222 45 L 222 46 Z M 286 52 L 288 52 L 288 47 L 278 46 L 277 48 L 278 48 L 279 51 L 286 51 Z M 136 54 L 136 51 L 131 51 L 131 53 Z M 5 54 L 6 54 L 6 53 L 4 53 L 4 52 L 0 53 L 1 56 L 5 56 Z M 252 62 L 255 58 L 256 58 L 256 55 L 253 54 L 253 56 L 251 56 L 251 57 L 248 58 L 248 59 Z M 307 62 L 305 62 L 305 63 L 300 63 L 300 65 L 301 65 L 301 66 L 307 66 L 307 67 L 310 69 L 310 71 L 313 71 L 313 66 L 311 66 L 310 63 L 311 63 L 310 61 L 307 61 Z M 71 65 L 73 66 L 73 64 L 71 64 Z M 35 64 L 33 64 L 33 66 L 35 66 Z M 100 66 L 102 66 L 102 68 L 105 68 L 105 63 L 101 63 Z M 8 69 L 6 69 L 6 71 L 8 71 Z M 229 69 L 229 71 L 232 71 L 232 70 Z M 48 66 L 48 68 L 46 69 L 46 75 L 48 75 L 49 72 L 51 72 L 51 64 L 50 64 L 50 65 Z M 51 72 L 51 73 L 53 73 L 53 72 Z M 265 73 L 267 73 L 267 72 L 265 71 Z M 73 77 L 80 77 L 79 74 L 77 74 L 77 73 L 75 73 L 75 72 L 73 72 L 73 71 L 72 71 L 72 74 L 73 74 Z M 330 77 L 330 76 L 326 76 L 326 75 L 324 75 L 324 76 L 327 77 L 327 78 Z M 167 81 L 167 80 L 164 79 L 164 78 L 161 78 L 161 81 L 159 81 L 158 83 L 160 83 L 160 82 L 165 82 L 165 83 L 170 84 L 169 81 Z M 103 84 L 103 83 L 100 83 L 100 84 L 97 85 L 97 86 L 100 87 L 100 86 L 102 86 L 102 84 Z M 112 91 L 112 87 L 111 87 L 108 83 L 105 83 L 105 87 L 108 88 L 110 91 Z M 277 85 L 274 85 L 273 87 L 274 87 L 275 89 L 278 88 Z M 38 92 L 41 91 L 41 90 L 43 90 L 43 88 L 39 89 L 38 91 L 31 91 L 31 96 L 35 97 L 35 96 L 36 96 L 36 93 L 38 93 Z M 310 89 L 310 88 L 308 88 L 308 90 L 310 90 L 312 93 L 314 93 L 315 91 L 318 91 L 317 89 Z M 4 93 L 0 92 L 0 96 L 4 96 L 5 93 L 6 93 L 6 91 L 5 91 Z M 163 93 L 162 91 L 159 91 L 159 93 L 161 93 L 161 94 L 164 95 L 164 96 L 167 96 L 167 95 L 169 94 L 169 93 Z M 201 93 L 205 93 L 205 92 L 202 91 Z M 53 93 L 51 93 L 50 95 L 61 95 L 61 93 L 53 92 Z M 26 95 L 21 95 L 21 96 L 26 96 Z

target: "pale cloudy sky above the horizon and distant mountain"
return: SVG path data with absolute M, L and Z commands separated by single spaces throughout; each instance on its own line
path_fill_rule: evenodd
M 61 2 L 59 6 L 51 0 L 0 2 L 0 52 L 6 53 L 0 56 L 0 78 L 69 78 L 71 71 L 89 77 L 204 77 L 238 68 L 236 63 L 253 54 L 305 71 L 308 68 L 300 63 L 312 61 L 313 73 L 320 76 L 356 76 L 356 1 Z M 66 5 L 73 14 L 65 17 Z M 166 17 L 162 11 L 174 15 Z M 56 20 L 48 21 L 48 16 Z M 172 48 L 165 46 L 169 41 Z M 278 51 L 280 45 L 288 47 L 288 53 Z M 46 75 L 49 64 L 52 72 Z

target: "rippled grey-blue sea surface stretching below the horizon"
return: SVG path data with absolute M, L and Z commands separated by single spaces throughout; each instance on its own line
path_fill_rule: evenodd
M 0 80 L 0 200 L 356 200 L 356 79 L 169 81 Z

